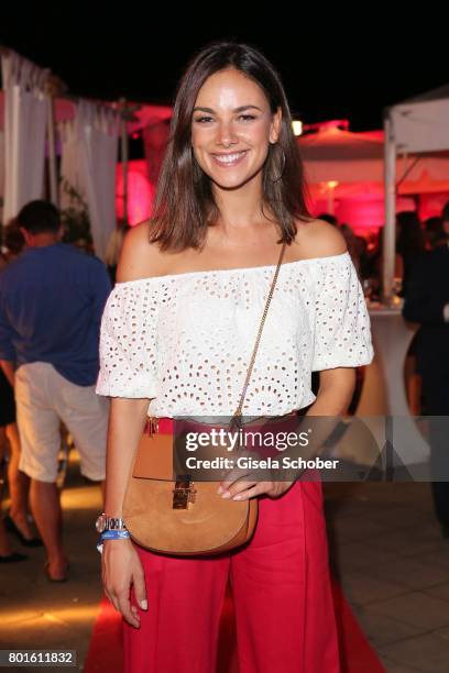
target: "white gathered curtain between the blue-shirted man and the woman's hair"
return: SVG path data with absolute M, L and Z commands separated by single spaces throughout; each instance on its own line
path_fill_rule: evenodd
M 105 261 L 108 240 L 116 229 L 116 166 L 119 115 L 80 100 L 75 120 L 59 125 L 63 144 L 61 207 L 68 206 L 66 179 L 87 202 L 95 253 Z

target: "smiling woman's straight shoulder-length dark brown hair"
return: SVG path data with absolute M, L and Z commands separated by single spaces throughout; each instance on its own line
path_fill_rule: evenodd
M 262 178 L 263 205 L 270 207 L 280 225 L 280 240 L 291 243 L 296 234 L 295 219 L 309 219 L 303 163 L 278 74 L 251 45 L 213 42 L 190 60 L 176 91 L 169 140 L 150 225 L 150 242 L 157 242 L 162 251 L 200 247 L 208 225 L 218 220 L 211 180 L 194 156 L 191 119 L 195 101 L 206 79 L 227 68 L 236 68 L 252 78 L 263 89 L 273 113 L 278 107 L 282 109 L 278 142 L 270 144 Z

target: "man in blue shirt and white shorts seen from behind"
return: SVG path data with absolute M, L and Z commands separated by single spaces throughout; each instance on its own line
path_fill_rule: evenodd
M 105 479 L 109 400 L 95 393 L 101 315 L 111 290 L 105 264 L 61 242 L 57 208 L 31 201 L 18 216 L 22 254 L 0 273 L 0 365 L 14 387 L 20 470 L 47 552 L 50 580 L 66 578 L 56 484 L 61 421 L 81 473 Z

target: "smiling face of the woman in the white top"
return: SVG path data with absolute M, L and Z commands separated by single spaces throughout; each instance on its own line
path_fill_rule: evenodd
M 261 175 L 281 130 L 261 87 L 240 70 L 215 73 L 195 101 L 191 145 L 196 161 L 219 187 L 238 188 Z

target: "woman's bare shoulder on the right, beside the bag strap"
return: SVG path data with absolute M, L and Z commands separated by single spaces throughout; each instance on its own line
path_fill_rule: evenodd
M 297 221 L 294 245 L 298 258 L 328 257 L 348 250 L 340 230 L 324 220 Z

